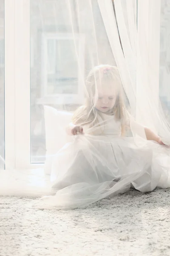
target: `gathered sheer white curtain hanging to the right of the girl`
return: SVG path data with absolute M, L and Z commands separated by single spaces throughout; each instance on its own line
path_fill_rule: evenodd
M 136 0 L 114 0 L 115 14 L 111 0 L 98 3 L 131 113 L 170 143 L 159 102 L 161 0 L 138 1 L 138 8 Z

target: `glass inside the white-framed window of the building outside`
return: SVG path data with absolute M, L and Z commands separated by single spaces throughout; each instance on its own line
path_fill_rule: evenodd
M 58 35 L 47 41 L 47 95 L 78 92 L 77 58 L 72 49 L 73 39 L 60 39 Z

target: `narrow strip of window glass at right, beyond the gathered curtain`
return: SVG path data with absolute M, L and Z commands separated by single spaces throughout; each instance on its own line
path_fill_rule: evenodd
M 170 122 L 170 0 L 161 1 L 159 95 Z

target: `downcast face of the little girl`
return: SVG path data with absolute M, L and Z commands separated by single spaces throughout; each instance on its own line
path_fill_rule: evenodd
M 117 93 L 111 87 L 98 88 L 98 95 L 94 97 L 93 103 L 97 110 L 105 113 L 114 107 L 116 97 Z

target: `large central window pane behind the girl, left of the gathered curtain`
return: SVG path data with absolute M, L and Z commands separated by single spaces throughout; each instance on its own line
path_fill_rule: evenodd
M 98 0 L 30 0 L 30 37 L 31 163 L 43 163 L 44 105 L 74 112 L 83 104 L 86 72 L 115 60 Z

